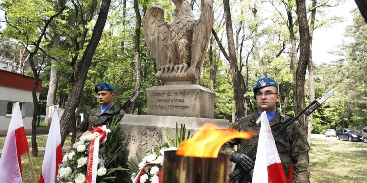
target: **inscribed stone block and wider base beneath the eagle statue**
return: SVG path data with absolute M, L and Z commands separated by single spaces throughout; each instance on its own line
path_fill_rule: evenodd
M 215 93 L 200 85 L 153 86 L 146 90 L 147 115 L 125 115 L 120 126 L 126 135 L 129 158 L 138 152 L 149 151 L 154 145 L 165 143 L 161 127 L 174 134 L 176 122 L 186 125 L 191 135 L 207 123 L 228 128 L 229 121 L 214 119 Z

